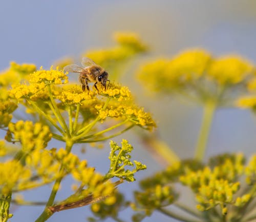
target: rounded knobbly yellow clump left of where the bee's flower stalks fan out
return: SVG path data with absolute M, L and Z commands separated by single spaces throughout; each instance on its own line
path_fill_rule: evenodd
M 40 122 L 33 124 L 32 121 L 19 120 L 15 124 L 11 122 L 8 127 L 6 139 L 19 141 L 24 151 L 44 149 L 52 138 L 49 127 Z

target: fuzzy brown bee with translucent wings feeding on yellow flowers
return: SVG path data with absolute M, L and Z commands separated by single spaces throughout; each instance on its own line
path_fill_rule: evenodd
M 80 73 L 78 80 L 82 84 L 83 91 L 87 88 L 89 93 L 89 82 L 95 82 L 94 87 L 97 89 L 98 93 L 99 90 L 97 87 L 97 83 L 101 83 L 101 85 L 104 86 L 104 89 L 106 90 L 106 82 L 109 82 L 109 88 L 110 80 L 108 80 L 108 72 L 106 72 L 101 66 L 97 65 L 93 60 L 87 57 L 82 58 L 81 64 L 83 67 L 80 67 L 76 64 L 67 65 L 64 67 L 64 70 L 68 72 Z

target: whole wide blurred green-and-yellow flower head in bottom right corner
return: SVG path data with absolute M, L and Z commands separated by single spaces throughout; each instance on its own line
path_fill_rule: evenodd
M 169 204 L 157 206 L 150 202 L 152 195 L 156 193 L 154 190 L 167 189 L 166 186 L 179 182 L 195 193 L 197 209 L 204 211 L 202 218 L 210 215 L 213 212 L 212 209 L 218 212 L 217 206 L 220 206 L 220 215 L 225 215 L 227 221 L 232 221 L 232 218 L 241 219 L 244 216 L 244 208 L 249 206 L 256 194 L 255 158 L 255 155 L 252 156 L 247 164 L 242 154 L 212 157 L 205 166 L 193 161 L 177 162 L 155 176 L 142 180 L 140 182 L 142 191 L 135 192 L 133 206 L 136 206 L 137 210 L 144 209 L 152 212 L 154 209 L 161 210 L 164 206 L 175 204 L 177 200 L 175 190 L 169 192 L 168 197 L 172 197 Z M 140 214 L 141 218 L 142 215 L 143 213 Z

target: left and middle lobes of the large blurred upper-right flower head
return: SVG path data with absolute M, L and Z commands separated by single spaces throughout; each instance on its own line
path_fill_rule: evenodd
M 178 54 L 173 59 L 158 59 L 143 65 L 138 78 L 151 90 L 170 92 L 189 85 L 204 74 L 211 55 L 201 49 Z

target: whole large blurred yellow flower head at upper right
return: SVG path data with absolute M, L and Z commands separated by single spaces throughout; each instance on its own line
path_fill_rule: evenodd
M 240 56 L 216 58 L 198 48 L 181 52 L 172 59 L 146 63 L 137 76 L 150 90 L 178 93 L 202 102 L 211 98 L 224 105 L 227 98 L 234 96 L 233 91 L 240 90 L 240 94 L 246 91 L 253 72 L 253 65 Z

